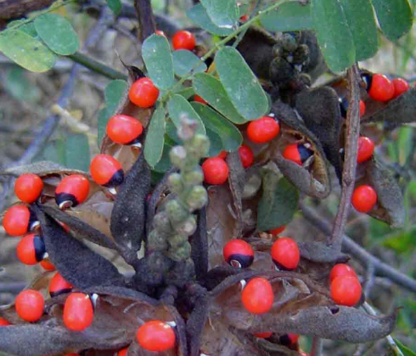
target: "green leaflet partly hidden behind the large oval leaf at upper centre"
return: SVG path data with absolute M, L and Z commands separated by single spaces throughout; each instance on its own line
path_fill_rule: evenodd
M 237 112 L 232 102 L 229 100 L 227 92 L 220 80 L 209 74 L 198 73 L 192 80 L 193 89 L 196 93 L 212 105 L 216 110 L 223 114 L 234 124 L 245 124 L 248 120 L 244 119 Z

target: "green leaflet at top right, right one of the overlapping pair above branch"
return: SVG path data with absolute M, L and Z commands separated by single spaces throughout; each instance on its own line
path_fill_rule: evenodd
M 343 0 L 342 6 L 352 34 L 356 61 L 371 58 L 379 49 L 379 35 L 370 0 Z

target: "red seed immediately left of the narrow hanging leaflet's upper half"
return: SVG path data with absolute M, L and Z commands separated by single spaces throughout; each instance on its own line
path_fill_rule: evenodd
M 107 123 L 107 135 L 118 144 L 132 144 L 143 132 L 141 122 L 128 115 L 115 115 Z

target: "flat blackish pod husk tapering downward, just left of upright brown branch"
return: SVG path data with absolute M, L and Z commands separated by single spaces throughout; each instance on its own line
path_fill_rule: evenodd
M 336 91 L 331 87 L 306 88 L 295 96 L 295 108 L 305 126 L 318 137 L 327 159 L 341 180 L 340 130 L 343 119 Z

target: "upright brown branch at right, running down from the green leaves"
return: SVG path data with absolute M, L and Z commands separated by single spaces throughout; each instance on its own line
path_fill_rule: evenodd
M 347 224 L 349 206 L 356 176 L 358 135 L 360 135 L 360 87 L 358 86 L 357 65 L 353 65 L 347 71 L 348 78 L 348 111 L 347 130 L 345 139 L 345 162 L 343 167 L 343 186 L 338 213 L 333 224 L 333 230 L 329 239 L 335 252 L 341 251 L 343 235 Z

